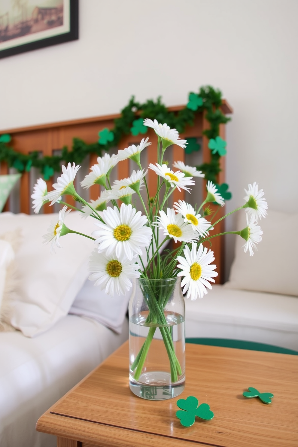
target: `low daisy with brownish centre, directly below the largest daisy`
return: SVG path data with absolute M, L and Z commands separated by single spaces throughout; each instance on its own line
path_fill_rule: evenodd
M 92 252 L 88 264 L 92 274 L 89 279 L 94 281 L 94 286 L 105 288 L 105 293 L 113 297 L 114 292 L 117 295 L 125 295 L 130 290 L 131 278 L 139 278 L 139 264 L 134 261 L 128 261 L 126 258 L 117 259 L 115 255 L 106 256 L 105 253 Z

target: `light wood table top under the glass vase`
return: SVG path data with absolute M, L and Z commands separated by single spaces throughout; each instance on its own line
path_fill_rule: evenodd
M 37 430 L 58 446 L 298 446 L 298 356 L 186 344 L 186 386 L 180 396 L 149 401 L 129 388 L 128 342 L 39 418 Z M 245 398 L 254 387 L 271 404 Z M 196 396 L 214 418 L 184 427 L 178 399 Z

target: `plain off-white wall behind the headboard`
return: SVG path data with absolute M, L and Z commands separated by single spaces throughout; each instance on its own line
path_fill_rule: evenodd
M 298 211 L 297 17 L 297 0 L 80 0 L 78 41 L 0 59 L 0 131 L 117 113 L 132 94 L 185 104 L 210 84 L 234 108 L 228 211 L 253 181 Z

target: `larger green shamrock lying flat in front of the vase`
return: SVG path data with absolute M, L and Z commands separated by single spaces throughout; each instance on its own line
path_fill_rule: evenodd
M 214 417 L 214 413 L 210 410 L 208 404 L 197 406 L 199 401 L 194 396 L 188 396 L 186 399 L 179 399 L 177 406 L 183 410 L 176 411 L 176 416 L 185 427 L 190 427 L 196 420 L 196 416 L 209 421 Z

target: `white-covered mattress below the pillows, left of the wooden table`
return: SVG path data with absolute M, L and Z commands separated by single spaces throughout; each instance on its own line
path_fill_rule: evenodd
M 34 338 L 0 333 L 0 446 L 56 446 L 35 430 L 38 418 L 127 338 L 127 319 L 116 334 L 75 315 Z

